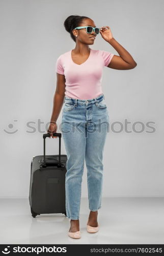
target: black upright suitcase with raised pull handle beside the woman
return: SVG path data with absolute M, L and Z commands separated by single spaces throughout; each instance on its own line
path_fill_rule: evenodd
M 65 175 L 67 155 L 61 155 L 61 133 L 59 137 L 59 155 L 45 156 L 45 139 L 50 134 L 43 134 L 44 155 L 35 156 L 31 161 L 31 179 L 29 201 L 32 216 L 40 214 L 65 214 Z

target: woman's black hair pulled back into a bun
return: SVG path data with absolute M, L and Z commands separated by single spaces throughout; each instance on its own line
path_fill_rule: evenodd
M 70 15 L 66 18 L 64 22 L 64 27 L 67 30 L 67 32 L 70 33 L 71 38 L 73 41 L 76 41 L 75 36 L 72 33 L 72 30 L 76 27 L 79 27 L 80 24 L 83 22 L 84 19 L 89 18 L 86 16 L 79 16 L 79 15 Z

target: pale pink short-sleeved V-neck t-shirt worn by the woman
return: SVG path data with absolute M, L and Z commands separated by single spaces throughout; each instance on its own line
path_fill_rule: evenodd
M 56 62 L 56 72 L 65 75 L 65 96 L 74 99 L 98 97 L 102 94 L 103 67 L 108 66 L 114 54 L 91 49 L 88 59 L 78 65 L 73 62 L 71 52 L 72 50 L 61 54 Z

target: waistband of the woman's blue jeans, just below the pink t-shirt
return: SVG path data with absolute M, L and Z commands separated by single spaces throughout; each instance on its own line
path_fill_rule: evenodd
M 64 102 L 67 102 L 69 104 L 75 104 L 75 105 L 77 105 L 77 104 L 86 105 L 86 104 L 89 104 L 89 103 L 96 103 L 97 104 L 103 99 L 105 99 L 103 94 L 101 94 L 98 97 L 93 98 L 93 99 L 74 99 L 74 98 L 70 98 L 68 96 L 65 96 L 64 97 Z

